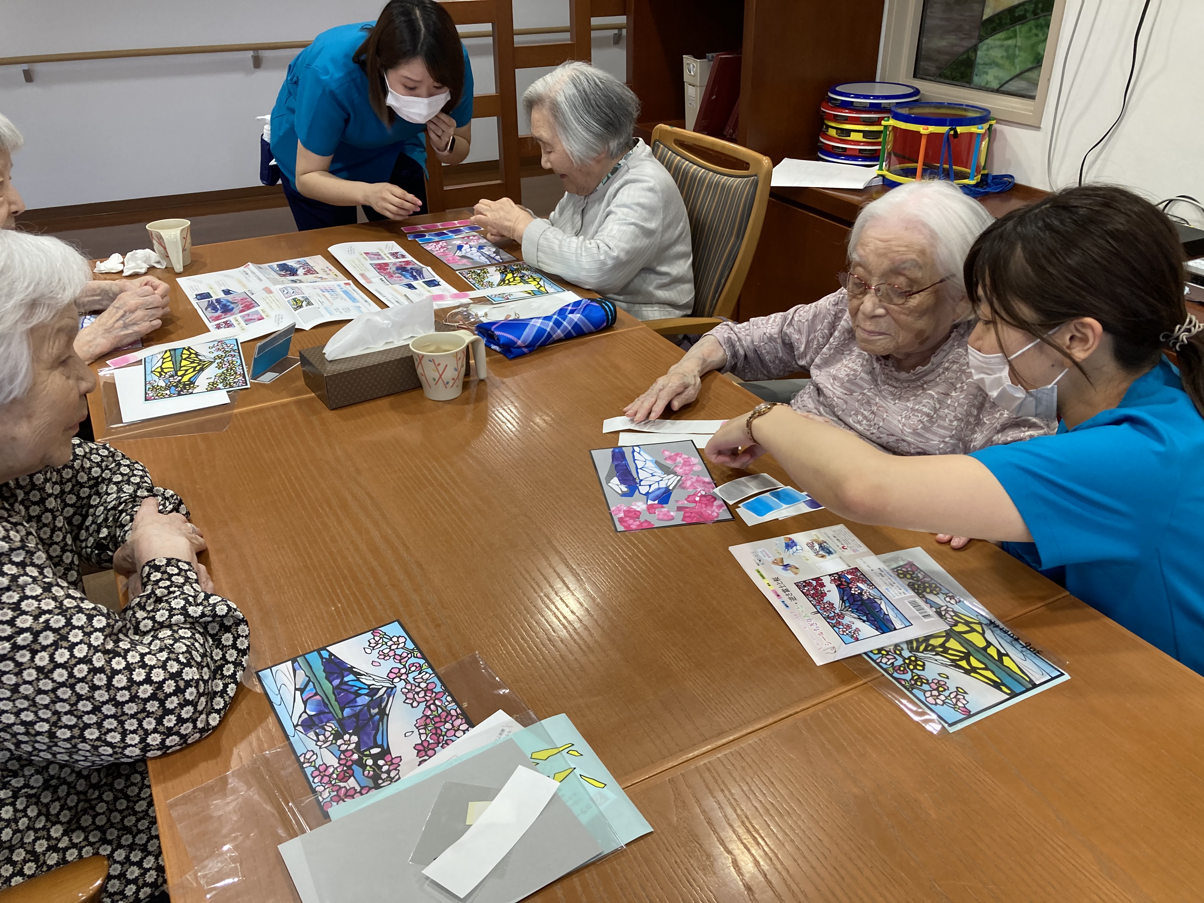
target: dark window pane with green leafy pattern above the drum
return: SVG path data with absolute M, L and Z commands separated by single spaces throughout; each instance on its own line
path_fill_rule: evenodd
M 1035 98 L 1054 0 L 923 0 L 916 78 Z

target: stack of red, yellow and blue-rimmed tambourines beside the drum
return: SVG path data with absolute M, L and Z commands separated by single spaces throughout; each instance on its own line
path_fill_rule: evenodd
M 846 82 L 828 89 L 820 104 L 819 157 L 828 163 L 878 166 L 883 122 L 891 107 L 919 100 L 920 89 L 896 82 Z

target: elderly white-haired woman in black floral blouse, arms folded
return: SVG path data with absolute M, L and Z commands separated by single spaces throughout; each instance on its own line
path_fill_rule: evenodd
M 69 246 L 0 231 L 0 886 L 100 854 L 105 899 L 140 901 L 164 887 L 144 760 L 217 726 L 247 624 L 179 498 L 72 438 L 87 278 Z M 131 577 L 123 612 L 84 597 L 81 562 Z

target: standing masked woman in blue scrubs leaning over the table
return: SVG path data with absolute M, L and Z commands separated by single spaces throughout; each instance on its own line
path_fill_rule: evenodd
M 376 22 L 318 35 L 289 64 L 272 153 L 299 230 L 426 213 L 426 136 L 438 163 L 472 141 L 472 69 L 447 10 L 390 0 Z

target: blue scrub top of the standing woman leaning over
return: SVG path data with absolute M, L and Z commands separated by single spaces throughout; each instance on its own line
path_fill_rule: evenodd
M 318 35 L 289 64 L 272 108 L 272 153 L 296 184 L 297 138 L 330 172 L 353 182 L 388 182 L 397 154 L 426 165 L 426 125 L 396 117 L 393 128 L 368 104 L 368 79 L 352 57 L 373 22 L 340 25 Z M 460 45 L 461 49 L 464 45 Z M 464 96 L 452 111 L 458 126 L 472 122 L 472 66 L 464 51 Z

